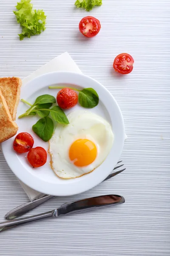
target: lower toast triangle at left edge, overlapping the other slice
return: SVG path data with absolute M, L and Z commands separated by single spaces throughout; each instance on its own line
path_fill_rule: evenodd
M 0 90 L 0 143 L 13 137 L 17 130 L 18 126 L 12 120 L 8 105 Z

